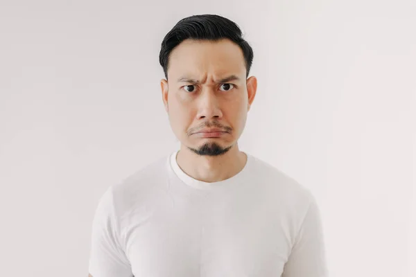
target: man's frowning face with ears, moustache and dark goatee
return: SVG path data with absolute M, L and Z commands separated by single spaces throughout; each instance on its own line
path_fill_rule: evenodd
M 216 156 L 241 136 L 257 80 L 246 80 L 243 51 L 234 42 L 187 39 L 171 52 L 168 81 L 162 80 L 161 87 L 177 139 L 197 154 Z M 200 133 L 212 128 L 224 133 Z

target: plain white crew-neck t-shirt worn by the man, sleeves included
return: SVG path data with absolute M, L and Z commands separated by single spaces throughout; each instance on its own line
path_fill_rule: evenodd
M 241 172 L 206 183 L 177 152 L 110 186 L 92 224 L 93 277 L 326 277 L 311 192 L 248 154 Z

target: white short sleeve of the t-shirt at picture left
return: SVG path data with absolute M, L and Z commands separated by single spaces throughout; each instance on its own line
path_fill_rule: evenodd
M 92 222 L 89 274 L 93 277 L 133 276 L 121 247 L 114 211 L 114 193 L 110 186 L 98 201 Z

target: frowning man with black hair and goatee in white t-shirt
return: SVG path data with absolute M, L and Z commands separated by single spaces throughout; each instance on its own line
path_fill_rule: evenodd
M 184 18 L 164 37 L 162 100 L 181 147 L 101 197 L 90 276 L 327 276 L 313 195 L 239 150 L 252 59 L 218 15 Z

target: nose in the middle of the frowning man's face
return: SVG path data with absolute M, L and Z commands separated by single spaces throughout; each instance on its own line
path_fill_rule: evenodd
M 207 88 L 202 91 L 200 99 L 198 99 L 198 119 L 221 119 L 223 117 L 223 112 L 221 111 L 219 104 L 220 103 L 213 89 Z

